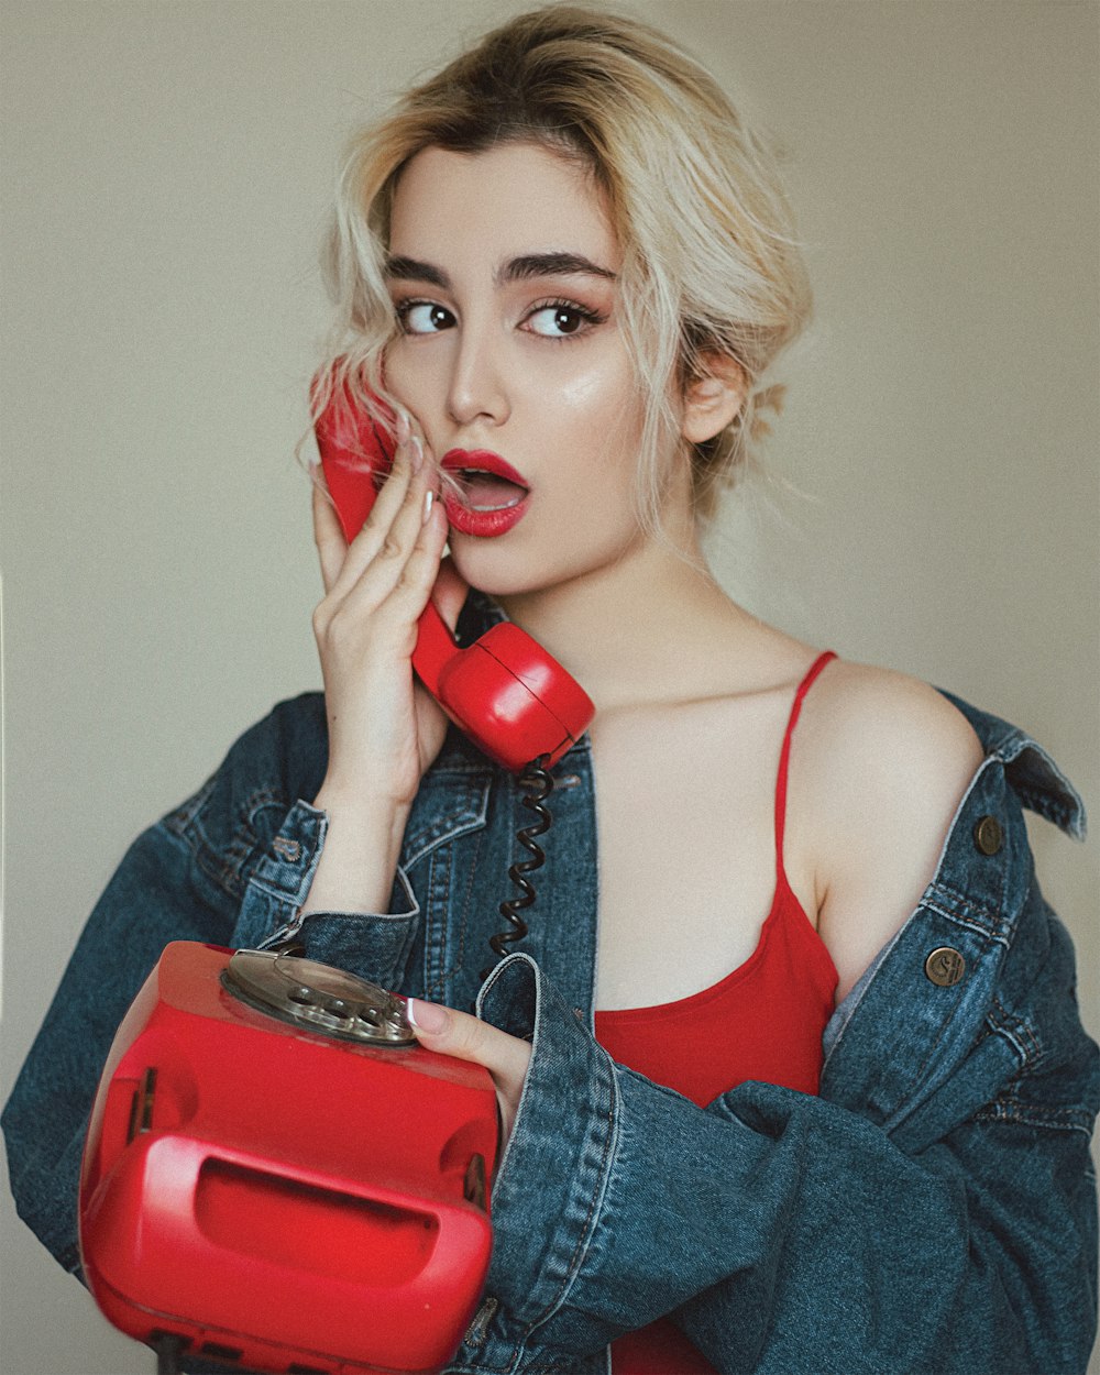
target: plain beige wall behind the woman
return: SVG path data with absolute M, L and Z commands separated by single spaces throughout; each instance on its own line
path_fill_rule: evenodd
M 336 158 L 518 8 L 3 6 L 4 1090 L 128 840 L 319 683 L 294 446 Z M 774 499 L 730 502 L 722 578 L 1026 726 L 1100 815 L 1100 11 L 626 8 L 784 138 L 817 283 Z M 1096 1033 L 1097 846 L 1034 839 Z M 4 1371 L 150 1371 L 4 1209 Z

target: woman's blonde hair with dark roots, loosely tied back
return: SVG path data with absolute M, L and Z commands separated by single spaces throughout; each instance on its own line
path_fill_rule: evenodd
M 758 388 L 806 323 L 810 290 L 769 148 L 693 58 L 635 19 L 569 4 L 520 15 L 352 140 L 324 257 L 337 384 L 360 403 L 364 385 L 384 390 L 395 331 L 384 267 L 403 168 L 426 147 L 480 153 L 507 142 L 578 162 L 606 197 L 623 252 L 623 330 L 646 397 L 646 528 L 660 528 L 660 455 L 679 436 L 678 392 L 708 373 L 711 355 L 744 371 L 733 424 L 692 446 L 696 512 L 708 516 L 766 430 L 760 410 L 777 408 L 781 389 Z

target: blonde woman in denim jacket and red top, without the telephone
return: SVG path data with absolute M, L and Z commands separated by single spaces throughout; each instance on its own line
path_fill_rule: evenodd
M 606 1370 L 609 1343 L 616 1372 L 1084 1368 L 1094 1048 L 1019 806 L 1071 825 L 1071 791 L 993 718 L 760 624 L 701 560 L 807 314 L 792 243 L 698 67 L 569 7 L 353 147 L 331 360 L 399 417 L 393 472 L 351 544 L 315 490 L 323 703 L 276 708 L 139 839 L 8 1107 L 63 1262 L 87 1104 L 160 947 L 293 936 L 494 1075 L 494 1262 L 456 1370 Z M 465 637 L 509 616 L 597 707 L 488 979 L 524 789 L 414 681 L 429 597 Z

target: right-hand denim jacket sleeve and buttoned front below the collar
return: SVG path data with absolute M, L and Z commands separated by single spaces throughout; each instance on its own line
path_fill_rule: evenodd
M 1020 792 L 1033 764 L 1018 752 Z M 943 947 L 965 971 L 949 987 L 924 972 Z M 1097 1056 L 1072 980 L 997 758 L 837 1011 L 820 1097 L 744 1084 L 700 1110 L 612 1063 L 514 954 L 480 1009 L 532 1035 L 532 1066 L 455 1368 L 602 1371 L 671 1312 L 729 1375 L 1084 1371 Z

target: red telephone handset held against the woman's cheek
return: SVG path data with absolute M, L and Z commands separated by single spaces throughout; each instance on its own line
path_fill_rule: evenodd
M 375 474 L 393 462 L 393 441 L 344 386 L 333 386 L 315 433 L 324 480 L 351 540 L 374 505 Z M 459 730 L 513 773 L 542 755 L 557 763 L 595 714 L 580 685 L 510 622 L 491 626 L 461 649 L 429 602 L 412 667 Z

